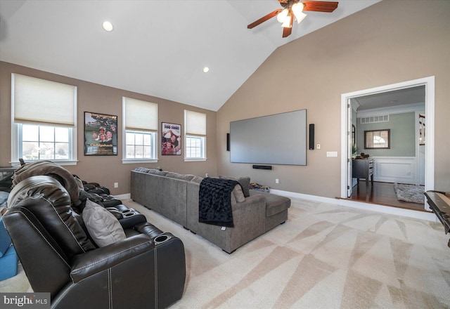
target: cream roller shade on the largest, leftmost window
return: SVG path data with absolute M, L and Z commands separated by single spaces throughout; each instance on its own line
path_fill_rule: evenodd
M 12 88 L 14 122 L 75 126 L 76 86 L 12 74 Z

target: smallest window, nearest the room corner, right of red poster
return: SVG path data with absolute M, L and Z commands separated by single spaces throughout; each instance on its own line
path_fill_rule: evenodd
M 184 110 L 186 126 L 186 161 L 204 161 L 206 159 L 206 114 Z

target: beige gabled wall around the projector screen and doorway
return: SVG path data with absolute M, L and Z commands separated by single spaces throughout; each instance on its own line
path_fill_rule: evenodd
M 450 1 L 382 1 L 278 48 L 217 112 L 218 173 L 339 197 L 341 94 L 435 76 L 435 189 L 450 191 L 449 16 Z M 321 144 L 307 150 L 307 166 L 264 171 L 230 163 L 230 121 L 301 109 Z M 338 157 L 326 157 L 328 151 Z

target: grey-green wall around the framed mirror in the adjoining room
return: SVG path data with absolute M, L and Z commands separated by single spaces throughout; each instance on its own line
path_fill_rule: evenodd
M 371 157 L 415 157 L 416 115 L 414 112 L 390 114 L 389 121 L 375 124 L 361 124 L 358 118 L 356 144 L 359 152 Z M 364 131 L 390 129 L 390 149 L 364 149 Z

